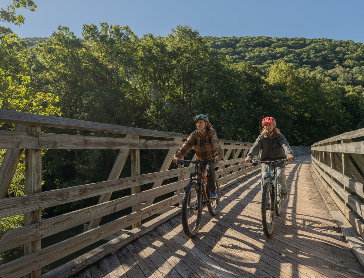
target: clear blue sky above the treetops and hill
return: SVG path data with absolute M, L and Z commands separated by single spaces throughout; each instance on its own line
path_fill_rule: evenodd
M 364 39 L 363 0 L 34 0 L 35 12 L 20 13 L 25 24 L 11 27 L 21 38 L 50 37 L 58 25 L 82 37 L 83 24 L 129 25 L 138 36 L 166 36 L 189 25 L 201 36 Z M 11 4 L 0 0 L 0 7 Z

